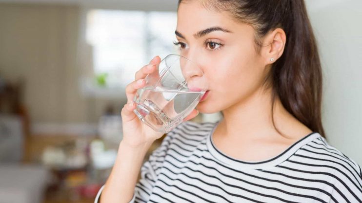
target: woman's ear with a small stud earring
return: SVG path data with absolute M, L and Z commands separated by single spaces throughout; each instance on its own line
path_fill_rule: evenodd
M 265 46 L 263 46 L 261 49 L 261 55 L 264 58 L 265 65 L 274 63 L 278 58 L 282 56 L 285 43 L 286 35 L 284 30 L 281 28 L 270 31 L 264 37 L 263 44 Z

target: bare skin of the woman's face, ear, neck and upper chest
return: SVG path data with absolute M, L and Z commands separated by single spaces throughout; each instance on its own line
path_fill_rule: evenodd
M 194 36 L 216 26 L 229 32 Z M 237 22 L 227 12 L 211 11 L 198 1 L 187 1 L 180 4 L 176 31 L 181 34 L 177 35 L 181 55 L 198 64 L 209 83 L 208 95 L 196 109 L 202 113 L 223 112 L 224 118 L 213 134 L 213 142 L 223 153 L 243 161 L 262 161 L 312 132 L 286 111 L 278 98 L 274 121 L 283 135 L 273 127 L 271 89 L 265 89 L 262 81 L 284 51 L 286 36 L 282 29 L 263 37 L 266 46 L 257 53 L 252 26 Z

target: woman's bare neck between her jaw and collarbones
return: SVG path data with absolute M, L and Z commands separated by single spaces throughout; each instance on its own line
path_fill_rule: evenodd
M 280 139 L 282 135 L 274 128 L 272 121 L 271 91 L 271 89 L 266 91 L 260 89 L 248 98 L 222 111 L 223 119 L 218 126 L 218 131 L 223 136 L 238 141 Z M 290 128 L 295 126 L 293 124 L 298 121 L 284 109 L 278 97 L 275 100 L 273 111 L 275 126 L 283 134 L 295 130 Z

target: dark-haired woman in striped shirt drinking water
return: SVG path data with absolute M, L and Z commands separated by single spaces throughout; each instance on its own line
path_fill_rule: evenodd
M 160 57 L 136 73 L 122 109 L 124 137 L 101 203 L 362 202 L 361 168 L 325 140 L 322 70 L 303 0 L 180 0 L 181 55 L 210 84 L 198 111 L 162 136 L 132 99 Z M 141 169 L 141 180 L 136 183 Z

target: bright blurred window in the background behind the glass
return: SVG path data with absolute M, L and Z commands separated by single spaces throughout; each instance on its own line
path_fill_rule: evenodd
M 154 56 L 178 52 L 176 12 L 90 10 L 86 23 L 94 74 L 106 74 L 108 88 L 124 88 Z

